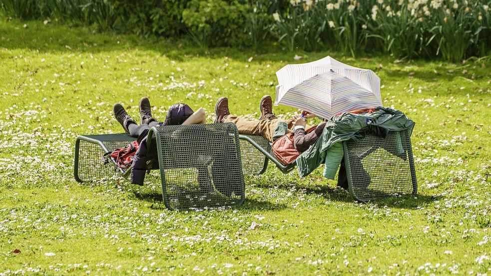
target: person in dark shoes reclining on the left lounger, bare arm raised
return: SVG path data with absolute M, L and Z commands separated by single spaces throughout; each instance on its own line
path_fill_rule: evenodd
M 176 103 L 169 108 L 167 116 L 163 122 L 159 122 L 152 117 L 150 100 L 146 97 L 141 98 L 138 105 L 140 110 L 140 125 L 131 118 L 124 107 L 116 103 L 113 106 L 114 117 L 121 124 L 124 131 L 129 135 L 138 138 L 143 132 L 157 125 L 193 125 L 206 124 L 206 114 L 203 108 L 193 111 L 189 105 L 185 103 Z

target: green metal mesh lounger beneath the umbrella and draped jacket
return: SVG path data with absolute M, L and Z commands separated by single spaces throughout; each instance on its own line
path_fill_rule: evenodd
M 283 173 L 296 164 L 284 166 L 273 155 L 271 143 L 260 136 L 239 135 L 245 175 L 260 175 L 273 162 Z M 367 202 L 394 195 L 416 194 L 418 185 L 408 130 L 390 131 L 386 138 L 369 134 L 359 141 L 343 142 L 349 190 L 358 201 Z

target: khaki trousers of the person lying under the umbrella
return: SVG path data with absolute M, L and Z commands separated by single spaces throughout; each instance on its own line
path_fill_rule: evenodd
M 249 121 L 245 118 L 237 117 L 235 115 L 228 115 L 224 123 L 234 123 L 237 126 L 240 134 L 258 135 L 262 136 L 270 142 L 273 142 L 273 136 L 278 126 L 278 122 L 285 122 L 288 124 L 288 130 L 293 129 L 293 119 L 282 120 L 255 120 Z

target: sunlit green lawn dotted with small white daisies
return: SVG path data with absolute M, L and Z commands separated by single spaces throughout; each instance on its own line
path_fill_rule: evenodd
M 451 64 L 187 44 L 1 20 L 0 275 L 491 275 L 490 57 Z M 228 96 L 233 113 L 257 118 L 276 70 L 328 54 L 376 71 L 384 105 L 416 122 L 417 196 L 360 204 L 322 169 L 300 179 L 270 165 L 245 179 L 242 207 L 176 212 L 164 207 L 157 172 L 120 190 L 73 178 L 77 135 L 122 131 L 115 102 L 137 120 L 142 96 L 160 119 L 185 102 L 211 123 Z

